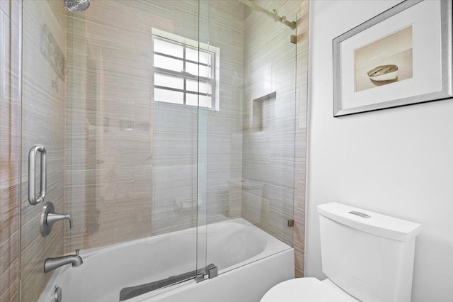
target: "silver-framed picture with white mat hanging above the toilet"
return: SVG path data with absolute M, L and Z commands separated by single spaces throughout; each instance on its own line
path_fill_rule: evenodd
M 452 96 L 451 0 L 406 0 L 333 39 L 333 116 Z

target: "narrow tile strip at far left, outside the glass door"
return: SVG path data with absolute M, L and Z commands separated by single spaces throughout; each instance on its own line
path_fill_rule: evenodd
M 19 9 L 0 1 L 0 301 L 19 301 Z

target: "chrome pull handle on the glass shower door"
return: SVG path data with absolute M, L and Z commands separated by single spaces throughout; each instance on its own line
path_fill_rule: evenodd
M 35 180 L 36 180 L 36 155 L 41 153 L 41 180 L 40 180 L 40 194 L 36 196 L 35 193 Z M 46 159 L 45 159 L 44 145 L 34 145 L 30 152 L 28 152 L 28 201 L 32 206 L 35 206 L 44 201 L 45 190 L 47 187 L 46 182 Z

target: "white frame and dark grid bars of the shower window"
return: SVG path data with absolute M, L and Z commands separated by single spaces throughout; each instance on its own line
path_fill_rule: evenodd
M 159 89 L 166 89 L 170 91 L 180 91 L 184 93 L 184 104 L 179 104 L 179 106 L 192 106 L 190 104 L 185 104 L 185 96 L 187 94 L 195 94 L 195 95 L 205 95 L 205 96 L 210 96 L 211 97 L 211 107 L 209 108 L 210 110 L 214 111 L 219 111 L 219 62 L 220 62 L 220 49 L 219 47 L 215 47 L 212 45 L 208 45 L 205 43 L 201 43 L 199 41 L 191 40 L 188 38 L 181 37 L 180 35 L 175 35 L 173 33 L 167 33 L 164 30 L 159 30 L 157 28 L 152 28 L 151 30 L 152 33 L 152 94 L 153 94 L 153 101 L 159 101 L 159 100 L 154 100 L 154 88 L 159 88 Z M 212 54 L 212 63 L 210 64 L 211 67 L 211 77 L 206 78 L 206 77 L 199 77 L 193 74 L 189 74 L 188 72 L 185 72 L 185 70 L 182 70 L 181 72 L 174 72 L 169 69 L 164 69 L 164 68 L 159 68 L 159 67 L 154 67 L 154 54 L 156 55 L 163 55 L 165 57 L 170 57 L 172 59 L 177 59 L 177 60 L 182 60 L 183 61 L 183 66 L 185 66 L 185 62 L 190 62 L 196 65 L 204 65 L 203 63 L 199 62 L 194 62 L 183 58 L 179 57 L 173 57 L 168 54 L 164 54 L 161 52 L 154 52 L 154 39 L 159 38 L 162 40 L 166 40 L 167 42 L 171 43 L 176 43 L 179 45 L 183 45 L 184 48 L 190 47 L 195 50 L 200 50 L 200 51 L 206 51 L 210 52 Z M 205 65 L 207 66 L 207 65 Z M 156 86 L 154 85 L 154 74 L 164 74 L 164 75 L 171 75 L 172 77 L 178 77 L 180 79 L 195 79 L 200 82 L 208 82 L 212 85 L 212 92 L 211 94 L 203 94 L 203 93 L 196 93 L 193 91 L 188 91 L 186 89 L 173 89 L 171 87 L 166 87 L 166 86 Z M 166 104 L 174 104 L 171 102 L 166 102 L 166 101 L 159 101 L 162 103 Z

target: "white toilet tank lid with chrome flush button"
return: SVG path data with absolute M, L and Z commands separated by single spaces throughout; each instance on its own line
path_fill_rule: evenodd
M 318 213 L 350 228 L 393 240 L 409 241 L 421 231 L 420 223 L 385 216 L 342 203 L 321 204 L 318 206 Z

